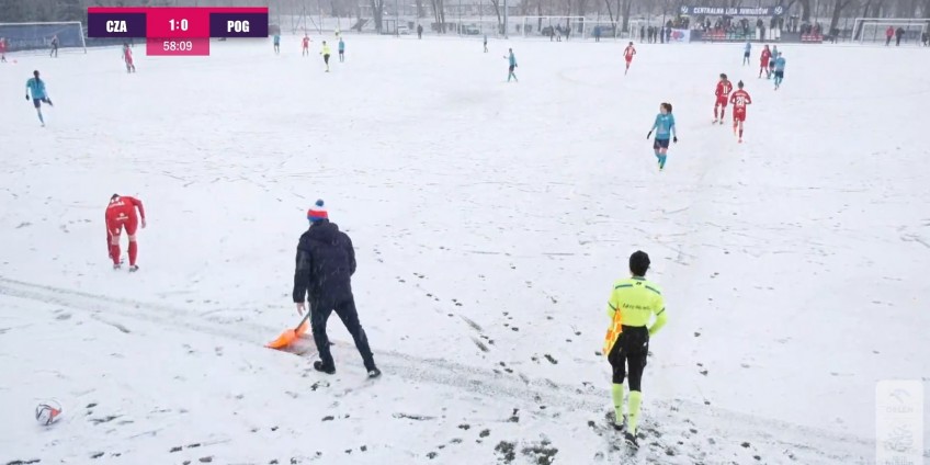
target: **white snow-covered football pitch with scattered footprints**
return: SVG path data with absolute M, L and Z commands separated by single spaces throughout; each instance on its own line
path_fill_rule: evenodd
M 137 46 L 131 76 L 114 48 L 10 56 L 0 465 L 872 463 L 875 383 L 930 379 L 927 50 L 784 46 L 774 92 L 740 45 L 637 45 L 626 77 L 623 43 L 490 46 L 349 36 L 330 73 L 296 37 Z M 753 99 L 742 145 L 710 124 L 719 72 Z M 148 214 L 132 275 L 114 192 Z M 374 383 L 337 319 L 334 376 L 311 340 L 262 348 L 298 319 L 318 197 L 355 243 Z M 630 456 L 596 352 L 636 249 L 670 320 Z

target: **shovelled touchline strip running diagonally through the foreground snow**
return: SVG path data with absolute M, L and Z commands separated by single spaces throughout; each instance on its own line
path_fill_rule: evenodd
M 3 276 L 0 276 L 0 295 L 82 310 L 90 313 L 94 318 L 112 316 L 169 328 L 181 327 L 185 330 L 240 342 L 253 342 L 257 345 L 263 344 L 257 339 L 257 334 L 276 333 L 270 327 L 249 322 L 230 325 L 168 305 L 107 297 Z M 110 321 L 106 322 L 110 324 Z M 349 343 L 338 342 L 337 344 L 350 350 L 354 349 Z M 298 354 L 302 358 L 315 355 L 315 350 Z M 393 351 L 377 351 L 377 355 L 385 373 L 394 375 L 392 378 L 444 385 L 488 397 L 506 396 L 515 400 L 515 405 L 524 412 L 534 412 L 536 407 L 545 405 L 547 408 L 559 407 L 564 411 L 590 412 L 591 418 L 599 419 L 610 404 L 606 390 L 597 389 L 590 383 L 570 386 L 547 378 L 532 379 L 525 376 L 498 374 L 489 368 L 463 365 L 444 359 L 419 358 Z M 818 460 L 828 463 L 861 458 L 860 454 L 865 453 L 863 451 L 874 451 L 873 441 L 711 408 L 691 400 L 651 399 L 649 410 L 648 417 L 651 418 L 645 420 L 644 428 L 650 424 L 658 428 L 681 427 L 683 423 L 699 424 L 704 430 L 700 439 L 716 436 L 723 442 L 727 438 L 752 438 L 758 442 L 758 439 L 763 438 L 773 450 L 780 447 L 794 450 L 798 454 L 812 453 Z M 773 438 L 773 431 L 779 431 L 780 436 Z M 678 439 L 680 438 L 671 435 L 668 441 Z M 813 444 L 827 445 L 826 449 L 829 452 L 818 451 L 812 447 Z M 704 454 L 697 443 L 692 442 L 688 445 L 695 447 L 687 453 L 690 457 L 699 458 Z M 658 444 L 658 449 L 653 452 L 661 453 L 665 447 L 666 444 Z M 718 451 L 719 447 L 716 446 L 713 449 L 715 451 L 711 451 L 712 454 L 724 452 Z

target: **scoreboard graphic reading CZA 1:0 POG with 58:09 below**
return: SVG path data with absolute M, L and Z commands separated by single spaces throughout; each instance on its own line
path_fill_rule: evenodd
M 88 8 L 88 37 L 145 38 L 146 55 L 207 56 L 211 37 L 268 37 L 268 8 Z

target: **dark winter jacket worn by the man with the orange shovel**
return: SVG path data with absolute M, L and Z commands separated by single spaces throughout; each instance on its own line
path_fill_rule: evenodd
M 352 239 L 328 220 L 314 223 L 297 243 L 294 271 L 294 302 L 310 304 L 352 296 L 351 276 L 355 273 Z

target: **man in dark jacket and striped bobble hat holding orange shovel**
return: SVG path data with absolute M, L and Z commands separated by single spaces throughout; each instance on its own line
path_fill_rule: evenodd
M 294 303 L 297 304 L 297 313 L 303 315 L 304 299 L 309 295 L 310 328 L 320 358 L 314 362 L 314 370 L 336 373 L 329 338 L 326 336 L 326 321 L 332 310 L 336 310 L 355 340 L 368 377 L 378 377 L 381 371 L 375 366 L 368 338 L 359 322 L 359 313 L 352 296 L 351 276 L 355 273 L 352 239 L 340 231 L 334 223 L 329 223 L 329 215 L 321 200 L 307 212 L 307 219 L 310 222 L 310 228 L 300 236 L 300 242 L 297 243 Z

